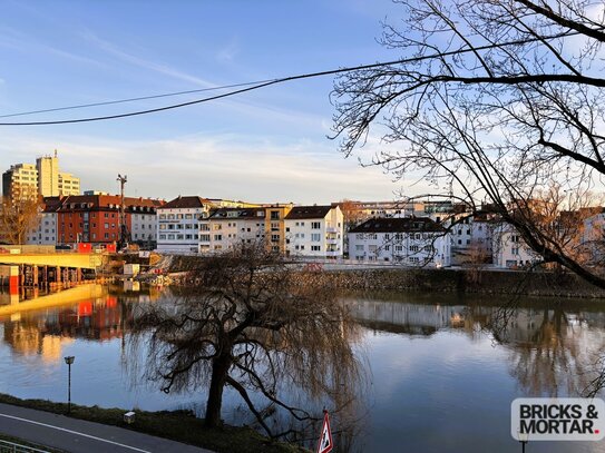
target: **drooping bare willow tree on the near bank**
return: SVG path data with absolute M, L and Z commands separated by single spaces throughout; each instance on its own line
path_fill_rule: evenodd
M 193 294 L 142 307 L 135 333 L 150 331 L 148 375 L 165 392 L 207 390 L 208 426 L 221 424 L 225 386 L 243 398 L 271 436 L 266 407 L 311 421 L 281 391 L 300 388 L 340 405 L 359 374 L 350 341 L 353 325 L 331 287 L 289 267 L 264 244 L 242 244 L 201 260 Z M 310 280 L 312 279 L 312 282 Z M 256 397 L 256 398 L 255 398 Z

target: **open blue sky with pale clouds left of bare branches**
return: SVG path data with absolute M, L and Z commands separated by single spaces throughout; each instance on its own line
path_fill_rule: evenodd
M 377 39 L 390 0 L 0 0 L 0 115 L 273 79 L 399 58 Z M 84 190 L 257 203 L 391 200 L 401 181 L 331 140 L 333 76 L 90 124 L 0 127 L 0 168 L 58 150 Z M 211 92 L 212 93 L 212 92 Z M 197 93 L 9 120 L 128 112 Z M 420 190 L 414 187 L 410 190 Z M 413 195 L 410 193 L 410 195 Z

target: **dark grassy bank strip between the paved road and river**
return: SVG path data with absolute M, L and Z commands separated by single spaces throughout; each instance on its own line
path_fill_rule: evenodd
M 53 403 L 47 400 L 20 400 L 14 396 L 0 394 L 0 403 L 36 408 L 39 411 L 67 414 L 67 404 Z M 250 427 L 225 425 L 221 429 L 207 429 L 204 421 L 196 418 L 189 411 L 174 412 L 136 412 L 136 422 L 124 423 L 123 408 L 103 408 L 98 406 L 79 406 L 71 404 L 70 416 L 127 430 L 170 439 L 218 453 L 303 453 L 308 450 L 283 442 L 275 442 L 262 436 Z

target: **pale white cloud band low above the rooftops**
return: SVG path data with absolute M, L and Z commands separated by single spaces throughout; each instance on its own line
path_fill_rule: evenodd
M 393 199 L 399 189 L 379 168 L 343 159 L 333 142 L 279 146 L 250 137 L 180 137 L 170 140 L 95 140 L 7 137 L 1 168 L 58 148 L 60 168 L 81 178 L 84 189 L 116 193 L 118 173 L 127 193 L 173 198 L 202 195 L 251 201 L 329 203 L 343 198 Z M 421 189 L 419 191 L 422 191 Z

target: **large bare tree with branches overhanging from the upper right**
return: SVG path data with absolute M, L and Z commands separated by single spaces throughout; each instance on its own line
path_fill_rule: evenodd
M 372 164 L 426 179 L 436 196 L 455 194 L 470 214 L 491 205 L 545 263 L 605 288 L 599 269 L 535 221 L 534 203 L 554 186 L 570 198 L 603 189 L 604 4 L 396 2 L 404 19 L 384 26 L 382 43 L 401 62 L 335 82 L 341 150 L 349 156 L 378 135 Z

